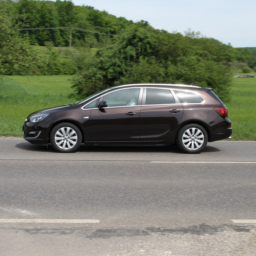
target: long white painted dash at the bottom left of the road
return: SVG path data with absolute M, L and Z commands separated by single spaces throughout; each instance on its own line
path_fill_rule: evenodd
M 83 219 L 0 219 L 0 223 L 100 223 L 100 220 Z

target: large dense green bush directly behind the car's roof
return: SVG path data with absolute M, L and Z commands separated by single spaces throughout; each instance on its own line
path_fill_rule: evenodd
M 73 80 L 79 97 L 131 83 L 191 84 L 211 87 L 229 99 L 233 48 L 213 38 L 193 38 L 134 24 L 100 49 Z

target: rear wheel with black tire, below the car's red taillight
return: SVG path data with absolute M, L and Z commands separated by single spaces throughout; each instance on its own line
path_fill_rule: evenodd
M 194 133 L 194 134 L 193 134 Z M 187 154 L 197 154 L 204 150 L 208 134 L 199 124 L 187 124 L 177 133 L 176 143 L 181 151 Z

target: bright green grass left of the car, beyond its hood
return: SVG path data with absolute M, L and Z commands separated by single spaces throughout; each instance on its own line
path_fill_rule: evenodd
M 22 136 L 28 114 L 53 106 L 74 103 L 72 76 L 9 76 L 0 79 L 0 135 Z

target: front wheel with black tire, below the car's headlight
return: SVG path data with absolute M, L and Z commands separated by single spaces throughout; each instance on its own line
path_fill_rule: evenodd
M 82 134 L 76 125 L 61 123 L 52 129 L 50 141 L 56 151 L 72 153 L 80 147 Z

